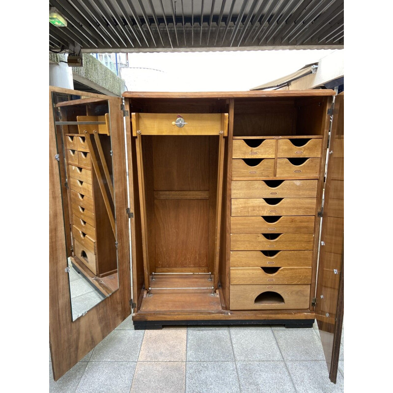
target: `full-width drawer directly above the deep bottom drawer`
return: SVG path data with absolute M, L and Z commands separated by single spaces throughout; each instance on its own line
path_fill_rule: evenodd
M 232 267 L 231 285 L 310 284 L 311 267 Z

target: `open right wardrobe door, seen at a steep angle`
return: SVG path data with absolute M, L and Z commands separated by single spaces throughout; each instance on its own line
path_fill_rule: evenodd
M 336 383 L 344 316 L 344 93 L 335 100 L 326 175 L 315 314 Z

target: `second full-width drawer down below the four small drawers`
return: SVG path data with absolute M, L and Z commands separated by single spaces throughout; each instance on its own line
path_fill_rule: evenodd
M 314 216 L 316 198 L 232 199 L 232 216 Z

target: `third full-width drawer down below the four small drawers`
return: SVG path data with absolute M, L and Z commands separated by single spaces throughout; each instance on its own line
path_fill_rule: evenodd
M 231 233 L 313 233 L 314 216 L 231 217 Z

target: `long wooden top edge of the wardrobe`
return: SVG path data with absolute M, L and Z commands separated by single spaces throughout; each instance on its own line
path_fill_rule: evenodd
M 167 92 L 167 91 L 125 91 L 125 98 L 260 98 L 260 97 L 320 97 L 333 96 L 334 90 L 253 90 L 253 91 L 195 91 L 195 92 Z

